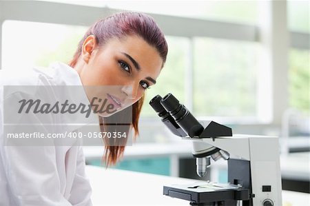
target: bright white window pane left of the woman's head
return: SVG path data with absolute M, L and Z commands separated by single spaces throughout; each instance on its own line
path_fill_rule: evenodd
M 4 21 L 2 68 L 21 70 L 52 61 L 68 62 L 86 28 L 73 25 Z

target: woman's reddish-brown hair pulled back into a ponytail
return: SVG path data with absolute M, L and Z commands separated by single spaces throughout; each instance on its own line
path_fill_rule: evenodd
M 81 50 L 85 39 L 94 35 L 96 43 L 99 46 L 104 45 L 109 39 L 126 37 L 128 35 L 136 35 L 143 38 L 149 45 L 154 46 L 158 51 L 158 54 L 163 59 L 163 65 L 167 58 L 167 42 L 165 40 L 164 34 L 152 17 L 147 14 L 140 12 L 120 12 L 113 14 L 110 17 L 105 19 L 100 19 L 96 21 L 88 30 L 85 32 L 84 37 L 79 42 L 78 48 L 73 56 L 73 59 L 70 61 L 69 65 L 73 68 L 79 57 L 81 56 Z M 163 68 L 162 65 L 162 68 Z M 141 113 L 141 108 L 143 105 L 144 94 L 136 103 L 130 108 L 126 108 L 113 114 L 109 117 L 99 117 L 99 123 L 101 132 L 115 132 L 119 130 L 119 127 L 116 130 L 116 127 L 119 124 L 130 122 L 129 125 L 125 127 L 122 126 L 122 130 L 125 130 L 126 134 L 129 134 L 131 129 L 134 129 L 134 137 L 138 135 L 138 119 Z M 125 115 L 126 112 L 132 112 L 132 115 Z M 126 119 L 127 118 L 127 119 Z M 130 118 L 130 119 L 128 119 Z M 106 127 L 105 124 L 113 123 L 114 126 Z M 128 135 L 127 135 L 128 136 Z M 103 138 L 105 142 L 105 155 L 103 156 L 103 161 L 106 165 L 115 165 L 125 150 L 125 143 L 127 138 L 119 140 L 118 144 L 111 145 L 107 138 Z M 115 141 L 115 140 L 114 140 Z M 123 141 L 123 142 L 121 142 Z M 125 141 L 125 142 L 124 142 Z

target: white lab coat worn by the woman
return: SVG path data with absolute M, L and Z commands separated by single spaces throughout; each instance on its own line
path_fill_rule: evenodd
M 0 85 L 0 205 L 92 205 L 81 142 L 65 146 L 3 145 L 3 85 L 82 85 L 79 74 L 55 62 L 45 70 L 0 70 Z

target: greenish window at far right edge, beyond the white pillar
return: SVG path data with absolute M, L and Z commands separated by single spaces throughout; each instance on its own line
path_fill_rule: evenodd
M 309 1 L 287 1 L 287 21 L 291 32 L 302 32 L 309 39 Z M 309 40 L 302 44 L 303 49 L 289 50 L 289 106 L 309 115 Z

